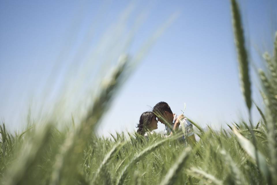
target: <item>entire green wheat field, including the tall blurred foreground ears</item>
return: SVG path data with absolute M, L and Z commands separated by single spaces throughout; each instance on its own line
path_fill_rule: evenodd
M 244 33 L 239 8 L 231 1 L 239 73 L 246 106 L 253 108 Z M 190 148 L 160 134 L 145 140 L 136 133 L 99 137 L 96 126 L 128 76 L 123 57 L 80 123 L 57 129 L 55 120 L 10 133 L 0 124 L 2 184 L 277 184 L 277 36 L 274 53 L 264 55 L 268 71 L 259 70 L 264 112 L 258 123 L 231 123 L 228 129 L 194 131 L 200 140 Z M 231 44 L 231 43 L 230 43 Z M 140 56 L 140 55 L 139 55 Z M 51 120 L 51 119 L 50 119 Z M 248 126 L 250 125 L 250 126 Z

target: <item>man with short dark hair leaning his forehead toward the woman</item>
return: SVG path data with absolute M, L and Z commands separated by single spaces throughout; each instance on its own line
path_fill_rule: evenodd
M 180 123 L 184 124 L 185 133 L 184 137 L 187 143 L 193 147 L 196 144 L 196 139 L 194 136 L 192 124 L 188 119 L 184 117 L 184 115 L 177 116 L 177 114 L 173 114 L 169 105 L 160 101 L 154 107 L 152 112 L 156 114 L 158 121 L 165 125 L 164 127 L 164 135 L 170 136 L 172 135 L 172 130 L 177 131 L 179 128 L 181 129 Z

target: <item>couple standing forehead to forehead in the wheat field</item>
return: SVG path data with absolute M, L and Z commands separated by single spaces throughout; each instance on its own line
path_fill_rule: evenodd
M 158 120 L 156 118 L 158 118 Z M 137 125 L 137 133 L 143 135 L 145 138 L 148 138 L 148 134 L 153 134 L 153 132 L 151 131 L 158 128 L 158 121 L 165 125 L 165 137 L 171 136 L 172 130 L 177 131 L 178 129 L 182 129 L 181 124 L 184 124 L 185 140 L 188 144 L 190 144 L 190 146 L 195 145 L 196 139 L 190 121 L 188 121 L 188 119 L 186 119 L 183 114 L 180 116 L 177 116 L 177 114 L 173 114 L 169 105 L 164 101 L 157 103 L 153 107 L 152 112 L 147 111 L 141 114 L 139 124 Z

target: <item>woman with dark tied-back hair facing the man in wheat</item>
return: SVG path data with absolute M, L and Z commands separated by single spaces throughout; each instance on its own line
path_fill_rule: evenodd
M 138 134 L 148 138 L 148 134 L 153 134 L 151 131 L 158 128 L 158 121 L 155 114 L 151 111 L 143 112 L 136 128 L 138 128 L 136 131 Z

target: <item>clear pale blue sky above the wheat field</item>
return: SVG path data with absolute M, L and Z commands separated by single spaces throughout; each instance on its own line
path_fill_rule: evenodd
M 277 1 L 240 5 L 251 61 L 262 67 L 257 49 L 272 51 Z M 175 12 L 179 16 L 123 84 L 98 132 L 132 131 L 159 101 L 177 114 L 186 102 L 185 114 L 203 127 L 246 118 L 230 1 L 221 0 L 0 1 L 0 118 L 9 129 L 20 128 L 29 107 L 35 119 L 61 104 L 57 114 L 81 116 L 116 58 L 134 56 Z M 132 30 L 132 42 L 124 45 Z M 252 83 L 253 98 L 262 105 L 257 86 Z M 259 119 L 254 108 L 253 119 Z

